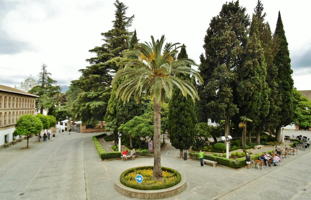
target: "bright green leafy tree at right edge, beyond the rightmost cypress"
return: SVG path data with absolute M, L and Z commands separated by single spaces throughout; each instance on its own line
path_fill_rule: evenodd
M 294 123 L 300 128 L 311 127 L 311 101 L 294 89 Z

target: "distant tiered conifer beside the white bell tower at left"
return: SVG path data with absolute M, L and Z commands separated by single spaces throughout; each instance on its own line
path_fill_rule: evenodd
M 51 78 L 52 74 L 46 69 L 48 66 L 42 64 L 41 67 L 37 85 L 28 92 L 39 96 L 39 98 L 36 99 L 36 108 L 40 109 L 40 113 L 43 114 L 44 109 L 54 107 L 54 96 L 60 94 L 61 88 L 59 85 L 56 85 L 57 81 Z

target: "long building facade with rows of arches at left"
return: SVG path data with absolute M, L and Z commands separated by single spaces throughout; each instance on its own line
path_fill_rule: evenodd
M 12 143 L 16 121 L 25 114 L 35 115 L 35 98 L 39 96 L 0 85 L 0 148 Z

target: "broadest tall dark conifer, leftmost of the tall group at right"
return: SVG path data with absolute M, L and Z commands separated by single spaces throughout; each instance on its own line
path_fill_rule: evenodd
M 201 55 L 201 110 L 218 122 L 225 119 L 225 136 L 230 135 L 230 120 L 239 112 L 234 102 L 238 80 L 237 70 L 243 65 L 243 52 L 248 42 L 249 17 L 239 1 L 227 2 L 219 15 L 212 18 L 204 38 L 205 57 Z M 201 118 L 202 119 L 202 118 Z

